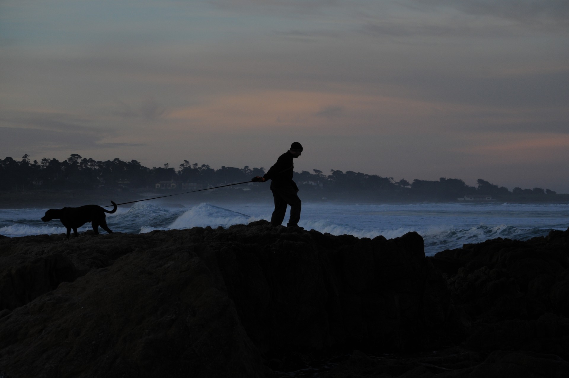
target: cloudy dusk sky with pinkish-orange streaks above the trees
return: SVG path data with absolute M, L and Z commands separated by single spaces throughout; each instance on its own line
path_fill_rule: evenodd
M 569 192 L 567 0 L 0 1 L 0 158 Z

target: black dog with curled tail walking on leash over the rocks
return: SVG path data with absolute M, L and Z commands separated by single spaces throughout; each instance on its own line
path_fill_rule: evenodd
M 93 226 L 95 235 L 98 235 L 99 233 L 99 226 L 101 226 L 106 232 L 113 233 L 113 231 L 110 231 L 109 227 L 106 225 L 105 213 L 108 212 L 109 214 L 112 214 L 117 211 L 117 204 L 113 201 L 110 203 L 114 205 L 114 208 L 110 211 L 98 205 L 49 209 L 46 211 L 46 215 L 42 217 L 42 220 L 47 222 L 52 219 L 60 219 L 61 223 L 63 223 L 67 228 L 67 239 L 69 239 L 71 229 L 73 229 L 73 235 L 77 236 L 77 227 L 81 227 L 87 222 L 90 222 Z

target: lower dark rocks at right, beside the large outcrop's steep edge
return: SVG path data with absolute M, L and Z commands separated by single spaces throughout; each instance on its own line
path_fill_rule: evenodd
M 447 278 L 463 335 L 414 356 L 355 351 L 325 376 L 569 376 L 569 229 L 465 244 L 428 260 Z

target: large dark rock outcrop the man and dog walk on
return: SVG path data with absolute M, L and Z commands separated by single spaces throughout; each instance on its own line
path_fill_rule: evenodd
M 417 233 L 258 221 L 63 239 L 0 240 L 0 372 L 14 378 L 262 377 L 263 361 L 432 344 L 453 317 Z

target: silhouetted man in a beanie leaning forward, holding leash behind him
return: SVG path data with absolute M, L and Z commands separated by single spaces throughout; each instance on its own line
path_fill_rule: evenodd
M 298 227 L 300 220 L 301 201 L 298 198 L 298 186 L 292 181 L 294 174 L 294 163 L 292 159 L 298 158 L 302 154 L 302 145 L 294 142 L 290 146 L 290 150 L 279 156 L 277 162 L 272 166 L 266 174 L 261 177 L 253 178 L 253 181 L 265 182 L 271 180 L 271 191 L 275 200 L 275 210 L 271 216 L 271 224 L 281 225 L 286 214 L 286 206 L 290 205 L 290 218 L 287 227 Z

